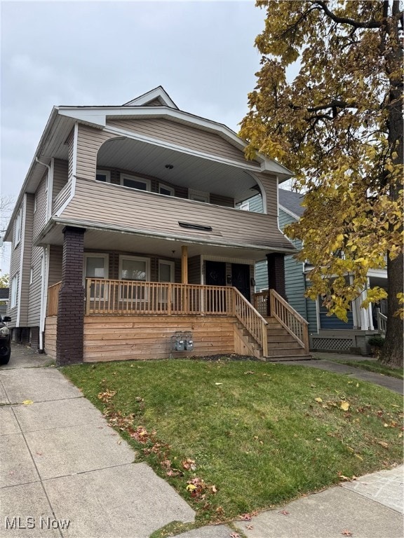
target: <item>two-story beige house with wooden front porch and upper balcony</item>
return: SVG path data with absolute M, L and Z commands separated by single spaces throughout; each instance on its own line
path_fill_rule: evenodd
M 13 340 L 58 364 L 304 357 L 307 327 L 288 326 L 283 299 L 294 247 L 277 221 L 290 172 L 244 148 L 161 87 L 121 106 L 53 108 L 6 232 Z M 263 211 L 237 209 L 253 193 Z M 260 260 L 267 316 L 251 304 Z

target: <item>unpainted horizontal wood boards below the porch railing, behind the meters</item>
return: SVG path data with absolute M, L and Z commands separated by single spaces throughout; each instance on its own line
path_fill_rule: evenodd
M 234 353 L 233 317 L 86 316 L 84 361 L 168 359 Z M 189 331 L 191 352 L 170 350 L 175 331 Z

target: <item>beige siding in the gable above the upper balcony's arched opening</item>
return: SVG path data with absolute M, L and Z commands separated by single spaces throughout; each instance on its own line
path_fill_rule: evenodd
M 170 142 L 177 146 L 208 153 L 221 158 L 227 158 L 237 163 L 245 164 L 243 149 L 236 148 L 219 135 L 176 123 L 163 118 L 108 120 L 107 127 L 116 127 L 121 130 L 137 132 L 141 135 Z M 254 165 L 253 161 L 250 164 Z M 257 168 L 259 165 L 257 164 Z

